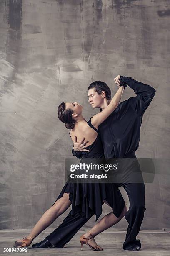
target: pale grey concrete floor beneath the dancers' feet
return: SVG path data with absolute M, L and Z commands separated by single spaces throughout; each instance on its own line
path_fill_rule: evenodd
M 139 252 L 124 251 L 122 249 L 122 243 L 125 238 L 124 231 L 117 232 L 103 232 L 96 237 L 96 242 L 105 248 L 105 251 L 92 251 L 89 247 L 84 246 L 84 250 L 80 250 L 79 238 L 82 232 L 78 232 L 68 243 L 65 248 L 47 248 L 47 249 L 33 249 L 31 246 L 28 248 L 27 252 L 3 252 L 3 248 L 13 248 L 13 241 L 16 239 L 21 239 L 28 235 L 30 230 L 0 230 L 0 256 L 1 255 L 29 255 L 29 256 L 90 256 L 90 255 L 114 255 L 114 256 L 169 256 L 170 255 L 170 231 L 141 231 L 138 238 L 142 241 L 142 249 Z M 48 232 L 43 232 L 33 243 L 37 243 L 45 238 L 49 234 Z M 26 247 L 25 247 L 26 248 Z

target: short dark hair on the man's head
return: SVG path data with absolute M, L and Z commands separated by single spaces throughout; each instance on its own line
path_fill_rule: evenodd
M 106 99 L 107 100 L 111 100 L 111 91 L 110 91 L 110 88 L 108 87 L 108 85 L 105 83 L 105 82 L 102 82 L 102 81 L 95 81 L 95 82 L 92 82 L 89 87 L 87 88 L 87 90 L 90 90 L 92 88 L 95 88 L 95 91 L 98 93 L 98 94 L 101 94 L 102 91 L 105 91 L 105 94 L 106 94 Z

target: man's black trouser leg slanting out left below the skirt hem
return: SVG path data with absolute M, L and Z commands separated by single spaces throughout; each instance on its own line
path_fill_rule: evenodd
M 90 213 L 90 218 L 92 215 Z M 82 217 L 78 212 L 72 216 L 70 211 L 61 225 L 46 238 L 55 248 L 63 248 L 90 218 Z

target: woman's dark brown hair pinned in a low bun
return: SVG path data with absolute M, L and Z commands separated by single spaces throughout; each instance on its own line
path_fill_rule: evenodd
M 62 121 L 62 123 L 65 123 L 65 127 L 67 129 L 72 129 L 74 128 L 75 123 L 75 121 L 72 118 L 73 111 L 71 109 L 66 109 L 65 107 L 66 106 L 64 102 L 62 102 L 58 106 L 58 118 L 60 119 L 60 121 Z

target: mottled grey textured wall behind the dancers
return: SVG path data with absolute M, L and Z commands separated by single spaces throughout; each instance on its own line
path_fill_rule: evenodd
M 0 227 L 31 228 L 65 182 L 68 130 L 62 101 L 98 110 L 86 89 L 100 79 L 117 90 L 117 74 L 152 85 L 155 98 L 141 127 L 138 157 L 168 158 L 170 9 L 167 0 L 0 1 Z M 127 88 L 122 100 L 134 96 Z M 121 191 L 123 189 L 121 188 Z M 127 196 L 123 191 L 126 201 Z M 142 228 L 168 228 L 169 177 L 146 184 Z M 108 207 L 103 207 L 108 212 Z M 51 227 L 55 228 L 66 213 Z M 87 225 L 92 226 L 95 219 Z M 122 220 L 116 228 L 125 230 Z

